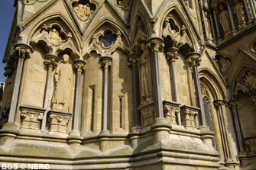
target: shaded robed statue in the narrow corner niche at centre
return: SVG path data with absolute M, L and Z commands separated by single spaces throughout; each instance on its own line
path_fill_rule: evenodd
M 150 51 L 145 43 L 141 43 L 143 54 L 139 59 L 140 66 L 140 87 L 141 87 L 141 106 L 153 101 L 153 88 L 151 78 L 151 59 Z

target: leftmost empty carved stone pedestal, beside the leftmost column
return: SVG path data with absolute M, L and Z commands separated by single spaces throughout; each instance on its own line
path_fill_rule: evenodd
M 41 120 L 46 109 L 39 107 L 20 106 L 21 109 L 21 129 L 20 131 L 39 132 Z

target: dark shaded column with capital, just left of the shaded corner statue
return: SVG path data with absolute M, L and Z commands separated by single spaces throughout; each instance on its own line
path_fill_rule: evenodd
M 138 59 L 139 54 L 133 53 L 128 56 L 128 66 L 132 66 L 132 85 L 133 85 L 133 113 L 134 113 L 134 127 L 141 126 L 141 112 L 138 111 L 140 107 L 140 89 L 138 79 Z

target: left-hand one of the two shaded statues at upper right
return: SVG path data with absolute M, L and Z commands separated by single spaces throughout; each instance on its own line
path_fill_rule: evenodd
M 224 10 L 223 5 L 219 5 L 221 13 L 219 14 L 219 22 L 222 24 L 225 36 L 231 33 L 231 26 L 229 21 L 228 11 Z

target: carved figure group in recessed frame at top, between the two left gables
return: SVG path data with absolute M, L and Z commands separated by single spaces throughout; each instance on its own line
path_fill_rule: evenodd
M 88 0 L 73 0 L 70 2 L 70 5 L 73 11 L 76 12 L 76 16 L 82 21 L 89 19 L 97 8 L 97 4 L 95 2 Z

